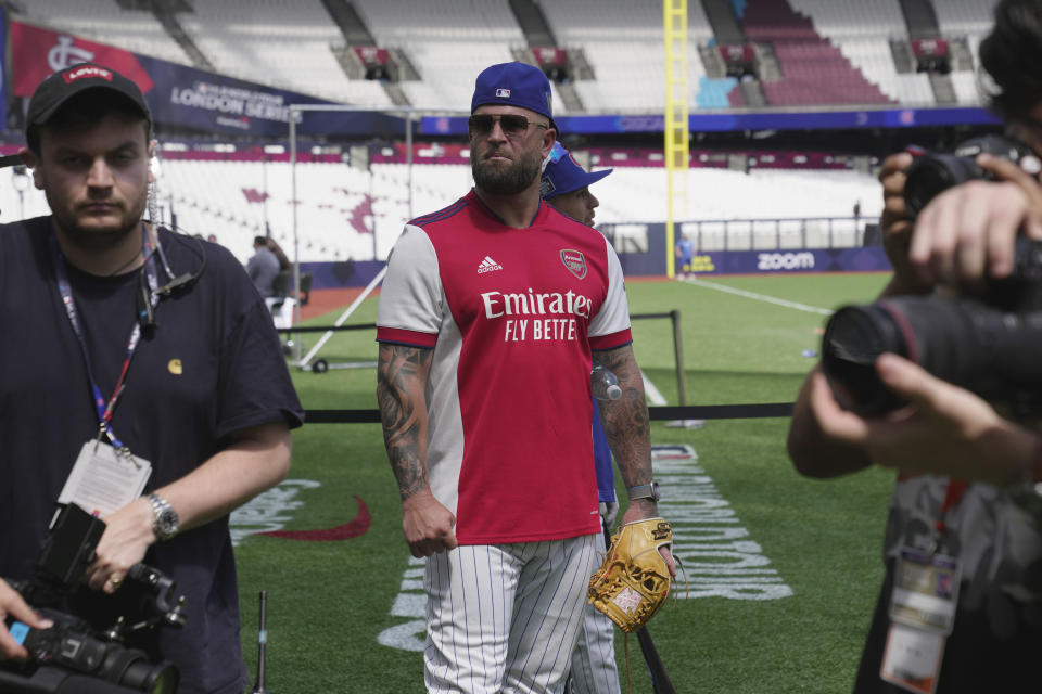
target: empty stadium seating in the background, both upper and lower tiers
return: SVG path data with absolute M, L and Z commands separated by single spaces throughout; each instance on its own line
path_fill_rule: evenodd
M 532 60 L 532 48 L 548 39 L 550 48 L 581 55 L 585 66 L 555 85 L 558 114 L 660 114 L 664 106 L 661 0 L 156 0 L 151 9 L 144 0 L 12 4 L 13 16 L 30 23 L 372 108 L 409 104 L 460 112 L 469 105 L 481 67 Z M 979 104 L 973 55 L 991 24 L 993 4 L 690 0 L 688 103 L 692 111 Z M 942 78 L 917 72 L 911 41 L 925 35 L 950 41 L 957 53 Z M 727 47 L 748 59 L 748 69 L 735 72 L 727 64 Z M 384 51 L 401 69 L 384 79 L 365 79 L 355 51 L 361 48 Z M 401 81 L 392 85 L 395 80 Z M 284 149 L 269 155 L 252 142 L 224 151 L 164 151 L 161 218 L 190 233 L 215 234 L 243 261 L 257 234 L 270 233 L 292 254 L 294 218 L 301 260 L 383 259 L 406 220 L 444 207 L 471 185 L 466 158 L 409 168 L 395 149 L 399 145 L 389 143 L 368 170 L 348 166 L 346 154 L 305 151 L 295 171 L 295 195 Z M 597 151 L 596 143 L 584 146 Z M 736 154 L 746 164 L 728 169 L 727 163 L 695 156 L 681 217 L 684 232 L 701 249 L 855 245 L 865 222 L 881 211 L 879 184 L 861 170 L 774 167 L 768 156 L 754 152 Z M 661 157 L 605 150 L 592 163 L 614 167 L 594 190 L 601 202 L 598 223 L 665 218 Z M 25 185 L 24 175 L 0 170 L 0 180 L 8 177 L 10 184 L 0 185 L 4 221 L 47 213 L 42 195 Z

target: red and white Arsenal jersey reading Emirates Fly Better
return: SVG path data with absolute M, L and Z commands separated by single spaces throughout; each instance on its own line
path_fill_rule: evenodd
M 380 342 L 434 350 L 428 473 L 461 544 L 600 531 L 590 349 L 631 342 L 603 235 L 545 203 L 512 229 L 471 191 L 406 226 L 377 325 Z

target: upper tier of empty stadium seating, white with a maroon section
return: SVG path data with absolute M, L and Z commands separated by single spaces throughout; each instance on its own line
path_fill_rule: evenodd
M 994 0 L 691 0 L 689 103 L 696 108 L 979 103 L 977 42 Z M 659 0 L 33 0 L 20 16 L 171 62 L 334 102 L 459 110 L 478 66 L 525 57 L 536 37 L 581 54 L 558 91 L 559 113 L 658 112 L 664 106 Z M 533 31 L 529 8 L 544 30 Z M 927 18 L 923 18 L 923 17 Z M 347 17 L 345 20 L 345 17 Z M 173 28 L 171 28 L 173 23 Z M 524 26 L 522 26 L 524 25 Z M 910 36 L 957 39 L 969 65 L 937 77 L 893 54 Z M 372 42 L 403 64 L 401 82 L 365 79 L 352 47 Z M 746 43 L 757 72 L 738 81 L 714 47 Z M 906 47 L 901 49 L 907 52 Z M 531 60 L 529 52 L 526 60 Z M 709 62 L 707 62 L 709 61 Z M 563 97 L 563 98 L 562 98 Z

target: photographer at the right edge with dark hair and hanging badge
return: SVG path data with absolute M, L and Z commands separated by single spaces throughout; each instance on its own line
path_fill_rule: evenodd
M 1001 0 L 980 57 L 1007 136 L 1042 155 L 1042 3 Z M 913 221 L 903 197 L 912 157 L 889 157 L 880 180 L 894 273 L 884 295 L 974 292 L 1009 275 L 1015 240 L 1042 239 L 1038 158 L 1028 158 L 1022 170 L 978 157 L 999 180 L 951 188 Z M 908 404 L 877 416 L 844 410 L 818 367 L 788 440 L 811 477 L 898 471 L 886 578 L 854 692 L 1038 692 L 1042 436 L 908 359 L 885 354 L 875 373 Z

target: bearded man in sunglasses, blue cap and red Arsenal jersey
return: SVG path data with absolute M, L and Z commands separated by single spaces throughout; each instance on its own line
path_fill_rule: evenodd
M 564 684 L 600 562 L 594 351 L 623 390 L 605 416 L 632 488 L 623 522 L 658 516 L 622 266 L 539 196 L 551 106 L 536 67 L 478 76 L 474 188 L 406 224 L 380 292 L 377 397 L 402 528 L 427 557 L 429 692 Z

